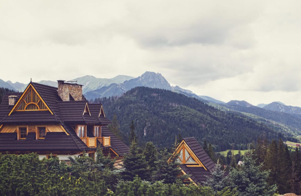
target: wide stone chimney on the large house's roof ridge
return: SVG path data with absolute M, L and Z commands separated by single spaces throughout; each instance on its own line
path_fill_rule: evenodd
M 82 85 L 68 81 L 71 83 L 65 83 L 64 80 L 57 81 L 57 93 L 63 101 L 70 101 L 70 95 L 75 101 L 82 101 Z

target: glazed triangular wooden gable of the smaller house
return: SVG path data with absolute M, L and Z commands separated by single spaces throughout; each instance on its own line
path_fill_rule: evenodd
M 178 162 L 181 164 L 185 164 L 188 167 L 203 167 L 205 170 L 207 170 L 201 160 L 184 140 L 182 140 L 182 142 L 178 145 L 175 153 L 179 154 Z

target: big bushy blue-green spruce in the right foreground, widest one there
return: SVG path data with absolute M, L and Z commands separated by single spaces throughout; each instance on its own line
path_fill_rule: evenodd
M 256 166 L 252 151 L 246 152 L 243 164 L 228 175 L 231 188 L 237 188 L 239 195 L 273 195 L 277 186 L 267 184 L 269 171 L 261 171 L 261 167 L 262 165 Z

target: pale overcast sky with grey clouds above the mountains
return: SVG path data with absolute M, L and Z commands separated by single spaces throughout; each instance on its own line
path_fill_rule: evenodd
M 0 0 L 0 78 L 161 73 L 228 102 L 301 106 L 301 1 Z

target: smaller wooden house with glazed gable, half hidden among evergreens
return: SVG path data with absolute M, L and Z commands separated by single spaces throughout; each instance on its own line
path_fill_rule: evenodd
M 183 174 L 189 174 L 193 183 L 203 184 L 211 176 L 215 163 L 195 138 L 184 138 L 175 150 L 179 154 Z

